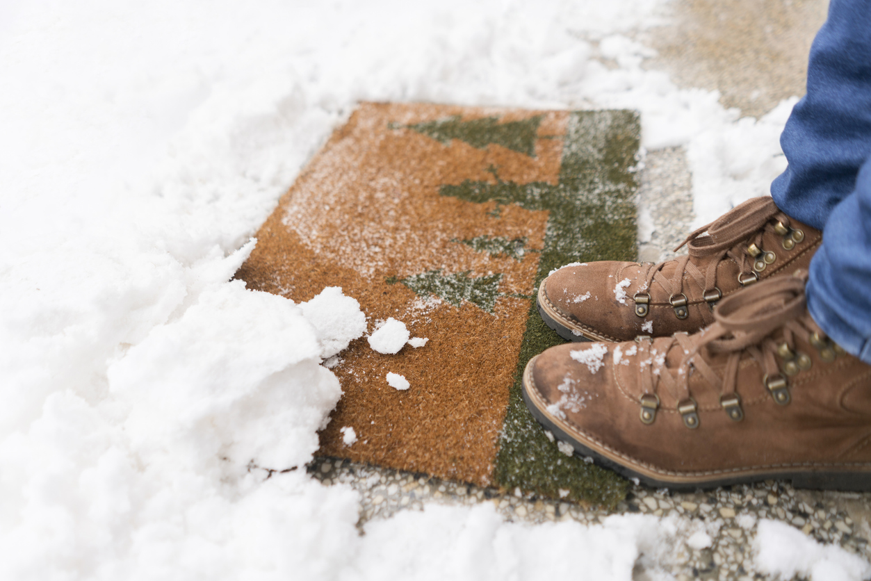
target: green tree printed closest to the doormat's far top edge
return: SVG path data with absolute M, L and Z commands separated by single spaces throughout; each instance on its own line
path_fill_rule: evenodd
M 400 125 L 391 123 L 390 129 L 410 129 L 434 138 L 442 145 L 450 145 L 452 139 L 459 139 L 476 149 L 484 149 L 491 143 L 502 145 L 531 158 L 536 157 L 538 125 L 542 116 L 530 117 L 521 121 L 499 123 L 497 117 L 485 117 L 463 121 L 459 115 L 446 119 Z

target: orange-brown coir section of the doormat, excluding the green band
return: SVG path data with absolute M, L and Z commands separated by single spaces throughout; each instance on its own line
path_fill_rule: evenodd
M 561 195 L 570 116 L 362 104 L 280 199 L 237 278 L 297 302 L 342 287 L 370 333 L 393 317 L 429 339 L 381 355 L 364 337 L 328 362 L 344 395 L 319 454 L 496 483 L 550 215 L 517 196 Z

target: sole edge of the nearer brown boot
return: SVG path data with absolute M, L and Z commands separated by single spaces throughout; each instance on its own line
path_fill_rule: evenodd
M 578 439 L 571 433 L 571 428 L 558 418 L 550 415 L 545 409 L 544 401 L 537 396 L 535 383 L 532 381 L 532 366 L 537 357 L 530 359 L 523 370 L 523 402 L 536 418 L 537 422 L 550 430 L 557 440 L 568 443 L 575 450 L 575 456 L 591 458 L 598 466 L 614 470 L 620 476 L 635 483 L 641 483 L 651 488 L 670 490 L 709 490 L 719 486 L 732 484 L 756 483 L 764 480 L 789 480 L 799 489 L 811 490 L 843 490 L 849 492 L 871 491 L 871 466 L 864 470 L 733 470 L 728 475 L 662 472 L 631 462 L 631 458 L 621 455 L 602 444 L 591 440 Z M 619 461 L 619 460 L 622 460 Z

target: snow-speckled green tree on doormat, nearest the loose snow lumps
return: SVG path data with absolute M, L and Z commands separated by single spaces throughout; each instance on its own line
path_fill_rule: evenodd
M 441 270 L 430 270 L 404 279 L 390 277 L 387 282 L 388 284 L 402 282 L 420 296 L 435 294 L 454 307 L 459 307 L 463 301 L 469 301 L 492 313 L 493 307 L 496 306 L 496 298 L 499 296 L 499 281 L 502 280 L 502 274 L 473 277 L 469 276 L 470 272 L 467 270 L 462 273 L 442 274 Z

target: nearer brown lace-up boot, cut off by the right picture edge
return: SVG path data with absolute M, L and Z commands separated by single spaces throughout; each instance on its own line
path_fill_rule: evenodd
M 804 278 L 760 282 L 714 314 L 697 334 L 550 348 L 523 398 L 575 454 L 649 486 L 871 490 L 871 366 L 817 327 Z

